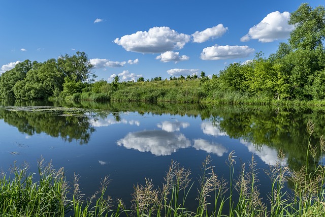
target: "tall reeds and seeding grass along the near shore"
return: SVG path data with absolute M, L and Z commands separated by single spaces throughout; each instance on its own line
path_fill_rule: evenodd
M 311 122 L 308 132 L 310 136 L 313 133 Z M 314 158 L 316 151 L 325 151 L 325 139 L 321 137 L 319 149 L 310 140 L 308 146 L 307 157 Z M 189 169 L 172 161 L 161 186 L 155 187 L 149 178 L 144 185 L 134 185 L 131 207 L 107 196 L 108 177 L 102 180 L 98 192 L 84 199 L 78 176 L 70 186 L 62 168 L 54 170 L 51 163 L 44 166 L 41 160 L 38 178 L 27 173 L 26 165 L 14 166 L 9 176 L 2 174 L 0 216 L 324 216 L 325 166 L 314 161 L 315 172 L 307 174 L 307 165 L 292 171 L 284 164 L 284 157 L 280 150 L 277 164 L 264 171 L 271 183 L 264 200 L 260 190 L 266 187 L 259 183 L 261 171 L 253 156 L 250 162 L 241 164 L 236 177 L 232 151 L 226 162 L 229 180 L 216 175 L 209 156 L 197 179 Z M 291 190 L 286 188 L 288 183 Z M 190 194 L 197 194 L 196 201 L 188 201 Z M 196 208 L 188 208 L 193 202 Z

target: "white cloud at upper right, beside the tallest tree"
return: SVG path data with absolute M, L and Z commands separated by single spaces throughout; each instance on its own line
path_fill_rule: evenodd
M 288 24 L 289 18 L 290 13 L 287 11 L 269 13 L 261 22 L 251 27 L 248 34 L 240 40 L 246 42 L 250 39 L 258 39 L 259 42 L 273 42 L 278 39 L 286 39 L 295 29 L 294 25 Z

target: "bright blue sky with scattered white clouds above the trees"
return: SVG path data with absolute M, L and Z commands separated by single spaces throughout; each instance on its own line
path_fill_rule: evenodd
M 98 79 L 218 74 L 287 41 L 304 2 L 0 1 L 0 73 L 29 59 L 84 51 Z M 322 1 L 309 2 L 311 7 Z

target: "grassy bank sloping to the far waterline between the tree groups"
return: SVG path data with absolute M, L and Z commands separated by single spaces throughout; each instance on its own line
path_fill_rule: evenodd
M 66 96 L 68 101 L 95 102 L 177 102 L 232 105 L 324 106 L 323 100 L 278 99 L 268 94 L 251 94 L 222 88 L 213 79 L 103 83 L 91 90 Z

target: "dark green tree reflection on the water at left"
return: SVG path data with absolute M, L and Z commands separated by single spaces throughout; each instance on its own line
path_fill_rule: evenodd
M 15 111 L 0 109 L 0 119 L 15 126 L 19 132 L 28 135 L 46 133 L 60 137 L 65 141 L 77 140 L 88 143 L 95 129 L 90 125 L 89 117 L 74 115 L 64 111 Z

